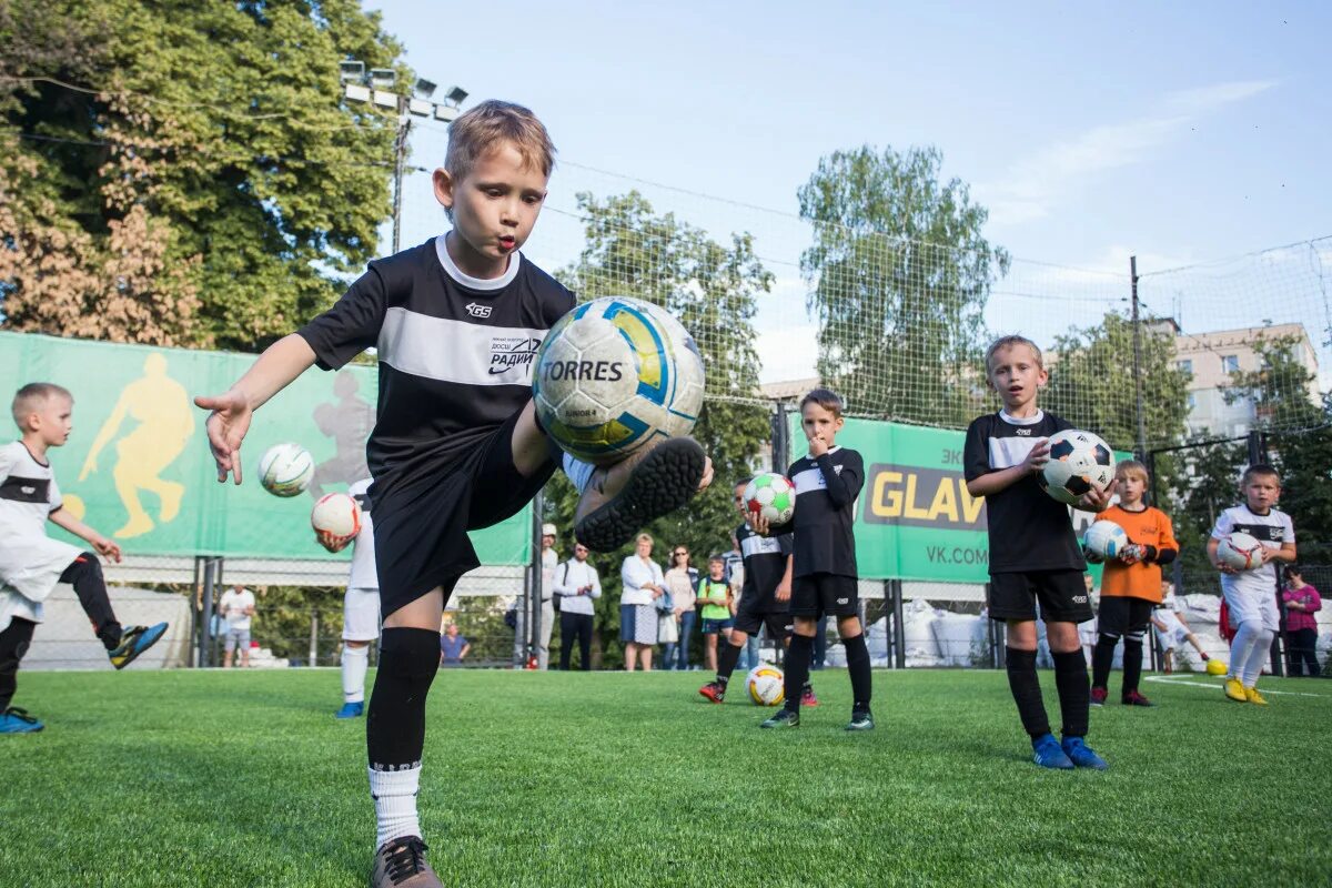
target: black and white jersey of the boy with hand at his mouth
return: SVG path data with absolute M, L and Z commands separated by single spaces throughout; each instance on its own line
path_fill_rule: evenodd
M 795 534 L 794 576 L 839 574 L 856 576 L 855 498 L 864 485 L 864 459 L 855 450 L 832 447 L 815 459 L 809 454 L 791 463 L 795 518 L 774 527 Z

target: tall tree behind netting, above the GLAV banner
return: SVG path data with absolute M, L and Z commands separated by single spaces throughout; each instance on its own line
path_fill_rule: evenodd
M 814 222 L 819 378 L 854 413 L 958 426 L 975 415 L 986 301 L 1008 253 L 966 182 L 939 182 L 936 148 L 868 145 L 819 160 L 798 192 Z

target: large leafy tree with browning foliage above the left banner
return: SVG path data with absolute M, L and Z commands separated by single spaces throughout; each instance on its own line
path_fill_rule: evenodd
M 337 63 L 400 48 L 356 0 L 0 0 L 0 41 L 8 326 L 250 350 L 374 254 L 396 120 Z

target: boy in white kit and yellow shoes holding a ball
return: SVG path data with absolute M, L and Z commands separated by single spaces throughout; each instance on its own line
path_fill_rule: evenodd
M 1207 556 L 1221 571 L 1221 596 L 1235 628 L 1225 696 L 1236 703 L 1267 706 L 1257 692 L 1257 678 L 1281 626 L 1272 562 L 1295 563 L 1295 525 L 1289 515 L 1276 509 L 1281 479 L 1272 466 L 1259 463 L 1245 469 L 1240 493 L 1244 505 L 1232 506 L 1216 518 L 1212 538 L 1207 541 Z M 1248 534 L 1259 541 L 1261 549 L 1255 567 L 1236 570 L 1221 559 L 1217 547 L 1231 534 Z

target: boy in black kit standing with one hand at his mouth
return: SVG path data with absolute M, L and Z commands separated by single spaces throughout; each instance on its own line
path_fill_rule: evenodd
M 814 389 L 805 395 L 801 427 L 810 453 L 791 463 L 787 471 L 795 485 L 795 517 L 779 527 L 770 527 L 761 514 L 747 517 L 754 531 L 763 537 L 791 533 L 794 538 L 791 616 L 795 630 L 786 651 L 786 703 L 781 712 L 763 722 L 761 727 L 765 728 L 799 727 L 814 635 L 830 614 L 836 616 L 846 647 L 846 668 L 851 674 L 851 720 L 846 730 L 874 728 L 870 648 L 860 627 L 852 531 L 855 498 L 864 485 L 864 459 L 850 447 L 836 446 L 836 433 L 843 425 L 842 398 L 827 389 Z

